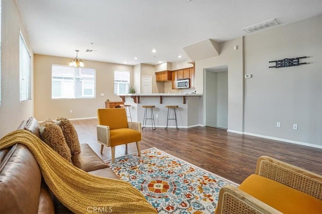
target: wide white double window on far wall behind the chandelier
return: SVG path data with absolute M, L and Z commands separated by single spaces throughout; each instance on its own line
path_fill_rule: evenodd
M 64 68 L 68 72 L 65 75 L 54 73 L 54 71 L 53 71 L 54 67 L 55 67 L 55 69 L 59 69 L 59 67 Z M 86 72 L 87 70 L 94 72 L 94 74 L 93 75 L 90 74 L 88 77 L 85 77 L 84 72 Z M 56 78 L 54 78 L 54 77 L 56 77 Z M 53 91 L 53 82 L 54 81 L 60 81 L 60 96 L 53 96 L 54 95 L 54 91 Z M 77 87 L 76 87 L 78 81 L 82 81 L 82 87 L 81 87 L 81 90 L 79 90 L 79 91 L 77 91 Z M 64 95 L 63 83 L 72 83 L 71 96 Z M 93 90 L 92 90 L 91 95 L 85 94 L 84 90 L 88 89 L 88 88 L 84 88 L 85 83 L 92 83 L 93 84 L 93 88 L 92 88 Z M 77 95 L 77 94 L 79 94 L 79 95 Z M 96 98 L 96 69 L 85 68 L 85 67 L 70 67 L 70 66 L 65 66 L 65 65 L 54 65 L 54 64 L 51 65 L 51 99 L 57 100 L 57 99 L 95 99 L 95 98 Z

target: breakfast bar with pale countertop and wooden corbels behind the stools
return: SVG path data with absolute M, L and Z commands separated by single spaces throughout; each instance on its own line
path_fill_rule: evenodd
M 152 93 L 152 94 L 120 94 L 120 98 L 126 105 L 131 105 L 131 115 L 133 121 L 143 124 L 144 108 L 142 106 L 153 105 L 154 122 L 156 127 L 166 127 L 167 125 L 167 105 L 177 105 L 177 122 L 179 128 L 189 128 L 200 126 L 202 112 L 203 94 L 195 93 Z M 149 113 L 150 114 L 150 113 Z M 174 112 L 170 111 L 170 117 L 174 117 Z M 151 121 L 147 122 L 151 126 Z M 173 128 L 175 121 L 169 121 L 168 127 Z

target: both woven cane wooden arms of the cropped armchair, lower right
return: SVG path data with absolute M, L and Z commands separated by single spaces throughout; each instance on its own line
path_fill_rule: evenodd
M 268 156 L 257 160 L 256 174 L 322 200 L 322 176 L 319 174 Z M 234 186 L 226 185 L 219 191 L 216 213 L 281 212 Z

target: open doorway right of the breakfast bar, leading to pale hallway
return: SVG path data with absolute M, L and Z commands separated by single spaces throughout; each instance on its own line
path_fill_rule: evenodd
M 205 69 L 206 126 L 228 128 L 228 65 Z

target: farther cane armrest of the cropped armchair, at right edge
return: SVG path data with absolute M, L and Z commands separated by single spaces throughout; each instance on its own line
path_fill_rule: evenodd
M 322 176 L 319 174 L 268 156 L 258 158 L 256 174 L 322 200 Z

